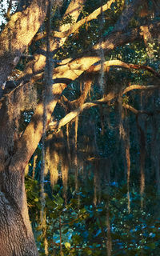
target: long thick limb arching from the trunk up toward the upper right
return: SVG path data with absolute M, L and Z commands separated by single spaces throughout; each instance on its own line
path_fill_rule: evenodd
M 153 24 L 150 25 L 150 30 L 151 31 L 156 30 L 157 32 L 159 30 L 159 24 L 160 22 L 156 22 L 154 23 L 154 25 Z M 142 35 L 140 33 L 139 28 L 131 31 L 126 31 L 125 33 L 122 33 L 122 32 L 118 34 L 114 33 L 114 34 L 110 34 L 110 36 L 106 38 L 106 41 L 102 42 L 101 46 L 105 52 L 109 52 L 110 50 L 114 50 L 114 48 L 117 46 L 122 46 L 128 42 L 134 42 L 134 40 L 138 40 L 141 37 Z M 93 47 L 94 54 L 97 52 L 99 46 L 100 44 L 98 43 L 96 46 Z M 54 106 L 57 104 L 58 98 L 62 94 L 62 90 L 66 88 L 66 84 L 78 78 L 85 70 L 88 70 L 90 66 L 98 62 L 99 59 L 100 58 L 97 53 L 97 56 L 93 56 L 93 57 L 86 56 L 86 57 L 78 58 L 73 60 L 72 62 L 67 63 L 64 66 L 59 66 L 54 69 L 53 78 L 54 78 L 55 84 L 52 90 L 53 95 L 50 95 L 50 100 L 47 106 L 47 113 L 48 113 L 47 123 L 50 122 L 50 116 L 54 110 Z M 42 63 L 36 61 L 34 63 L 34 70 L 38 71 L 40 66 L 41 67 L 44 66 L 44 61 Z M 33 71 L 31 70 L 31 72 Z M 101 101 L 99 100 L 99 102 Z M 87 103 L 87 104 L 90 104 L 90 103 Z M 35 111 L 34 117 L 30 122 L 30 124 L 26 127 L 26 130 L 19 141 L 18 150 L 13 157 L 13 163 L 18 164 L 18 169 L 22 170 L 22 166 L 25 166 L 25 164 L 29 161 L 41 137 L 42 137 L 42 105 L 41 103 L 39 103 L 38 108 Z M 24 152 L 23 158 L 22 158 L 22 152 Z M 19 164 L 21 162 L 21 159 L 22 159 L 22 165 Z

